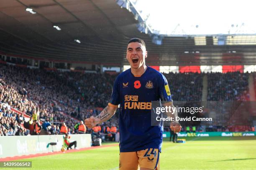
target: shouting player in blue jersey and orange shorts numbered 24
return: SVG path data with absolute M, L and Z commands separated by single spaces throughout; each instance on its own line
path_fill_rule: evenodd
M 120 104 L 120 170 L 159 170 L 159 153 L 163 126 L 151 126 L 151 101 L 167 101 L 172 97 L 166 78 L 148 67 L 145 42 L 132 38 L 127 45 L 126 59 L 131 65 L 116 78 L 108 106 L 97 117 L 84 120 L 88 128 L 109 120 Z M 175 133 L 181 130 L 178 122 L 171 122 Z

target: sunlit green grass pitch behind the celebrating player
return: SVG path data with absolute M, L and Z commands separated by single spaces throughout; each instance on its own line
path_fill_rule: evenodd
M 256 137 L 186 139 L 186 143 L 164 139 L 161 170 L 256 170 Z M 118 170 L 119 148 L 111 146 L 25 160 L 32 161 L 32 168 L 7 170 Z

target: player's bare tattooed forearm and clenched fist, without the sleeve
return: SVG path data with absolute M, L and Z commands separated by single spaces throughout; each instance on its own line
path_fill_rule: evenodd
M 93 128 L 97 124 L 109 120 L 115 114 L 116 109 L 117 107 L 107 106 L 100 112 L 100 115 L 97 115 L 96 117 L 91 116 L 90 118 L 85 119 L 84 124 L 88 128 Z

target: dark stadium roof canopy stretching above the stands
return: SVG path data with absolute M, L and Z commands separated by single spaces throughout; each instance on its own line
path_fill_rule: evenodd
M 256 64 L 255 35 L 145 34 L 138 30 L 140 23 L 128 6 L 120 7 L 122 1 L 128 3 L 125 0 L 1 0 L 0 52 L 41 60 L 120 65 L 127 64 L 128 40 L 140 37 L 146 41 L 148 65 Z

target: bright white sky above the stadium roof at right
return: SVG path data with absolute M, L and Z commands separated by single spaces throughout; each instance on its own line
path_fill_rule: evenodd
M 130 0 L 164 35 L 256 34 L 254 0 Z

